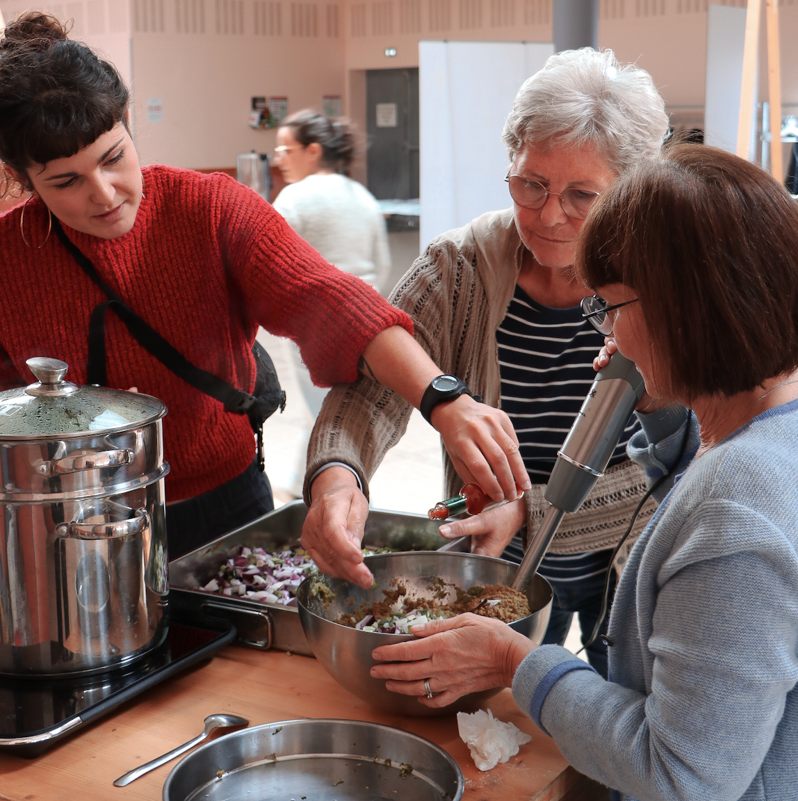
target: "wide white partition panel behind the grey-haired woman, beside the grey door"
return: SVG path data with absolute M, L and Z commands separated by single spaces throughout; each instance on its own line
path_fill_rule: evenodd
M 419 42 L 420 245 L 510 205 L 504 121 L 551 42 Z

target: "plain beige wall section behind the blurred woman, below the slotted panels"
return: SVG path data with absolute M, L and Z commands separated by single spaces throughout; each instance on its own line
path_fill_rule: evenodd
M 278 45 L 214 30 L 134 33 L 133 62 L 136 144 L 144 163 L 235 164 L 237 153 L 275 147 L 275 131 L 247 125 L 252 97 L 285 95 L 289 111 L 299 111 L 319 109 L 323 95 L 343 95 L 343 48 L 314 38 Z M 162 122 L 147 122 L 148 98 L 162 99 Z

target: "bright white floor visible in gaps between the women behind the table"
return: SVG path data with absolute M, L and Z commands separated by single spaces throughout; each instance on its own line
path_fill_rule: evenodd
M 258 340 L 274 360 L 287 396 L 285 412 L 275 413 L 263 428 L 266 471 L 274 489 L 275 505 L 282 505 L 299 494 L 312 420 L 299 391 L 287 341 L 263 330 Z M 427 512 L 443 498 L 440 449 L 435 429 L 427 425 L 418 411 L 414 411 L 407 433 L 387 453 L 371 480 L 371 506 L 401 512 Z M 581 647 L 576 619 L 568 632 L 565 647 L 573 652 Z M 580 654 L 580 658 L 585 658 L 584 654 Z

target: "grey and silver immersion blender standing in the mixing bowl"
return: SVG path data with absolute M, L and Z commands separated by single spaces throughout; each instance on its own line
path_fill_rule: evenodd
M 644 392 L 643 376 L 634 362 L 620 352 L 613 353 L 609 364 L 596 374 L 574 425 L 557 452 L 543 494 L 551 506 L 524 553 L 510 584 L 513 590 L 523 590 L 527 585 L 527 579 L 543 561 L 565 513 L 579 509 L 596 479 L 604 475 L 612 451 Z

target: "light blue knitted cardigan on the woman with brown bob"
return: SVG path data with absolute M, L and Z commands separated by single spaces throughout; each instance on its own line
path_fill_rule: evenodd
M 692 413 L 640 421 L 628 453 L 650 483 L 685 425 L 696 453 Z M 624 798 L 798 799 L 798 401 L 680 469 L 620 579 L 610 680 L 542 646 L 515 701 Z

